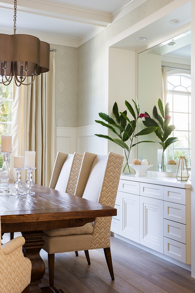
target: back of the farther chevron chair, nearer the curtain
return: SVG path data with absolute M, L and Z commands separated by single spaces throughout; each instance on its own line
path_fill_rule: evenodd
M 83 154 L 58 152 L 49 187 L 73 194 L 76 189 Z

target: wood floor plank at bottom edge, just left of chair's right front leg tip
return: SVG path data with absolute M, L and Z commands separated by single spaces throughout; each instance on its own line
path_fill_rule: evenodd
M 98 277 L 82 279 L 81 282 L 90 288 L 94 293 L 118 293 Z

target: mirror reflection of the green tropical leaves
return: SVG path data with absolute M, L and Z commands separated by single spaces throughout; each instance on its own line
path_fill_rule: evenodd
M 169 115 L 169 103 L 165 105 L 165 109 L 163 108 L 163 103 L 161 99 L 158 99 L 158 107 L 160 110 L 160 113 L 162 117 L 158 114 L 157 107 L 154 106 L 153 108 L 153 115 L 155 119 L 158 121 L 158 123 L 150 117 L 150 115 L 145 112 L 147 117 L 145 117 L 145 121 L 142 121 L 144 126 L 151 127 L 156 126 L 157 129 L 154 131 L 157 135 L 157 137 L 160 139 L 160 141 L 157 141 L 162 147 L 163 147 L 163 156 L 162 156 L 162 168 L 164 168 L 163 165 L 163 157 L 165 149 L 170 146 L 170 144 L 173 144 L 174 142 L 178 141 L 177 137 L 170 137 L 172 131 L 175 129 L 175 125 L 169 125 L 171 116 Z

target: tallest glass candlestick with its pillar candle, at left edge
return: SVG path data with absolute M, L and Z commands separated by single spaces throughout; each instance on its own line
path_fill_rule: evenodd
M 8 156 L 12 152 L 12 136 L 1 136 L 1 154 L 3 155 L 3 166 L 0 173 L 0 194 L 11 194 L 9 190 L 9 179 L 11 177 L 8 166 Z

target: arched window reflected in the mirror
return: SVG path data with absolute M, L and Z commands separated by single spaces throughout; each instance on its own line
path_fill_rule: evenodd
M 180 70 L 181 72 L 181 70 Z M 179 141 L 168 147 L 169 159 L 186 157 L 188 166 L 191 166 L 191 75 L 189 73 L 169 72 L 167 78 L 167 102 L 170 107 L 170 124 L 176 129 L 173 136 Z M 172 73 L 172 74 L 171 74 Z

